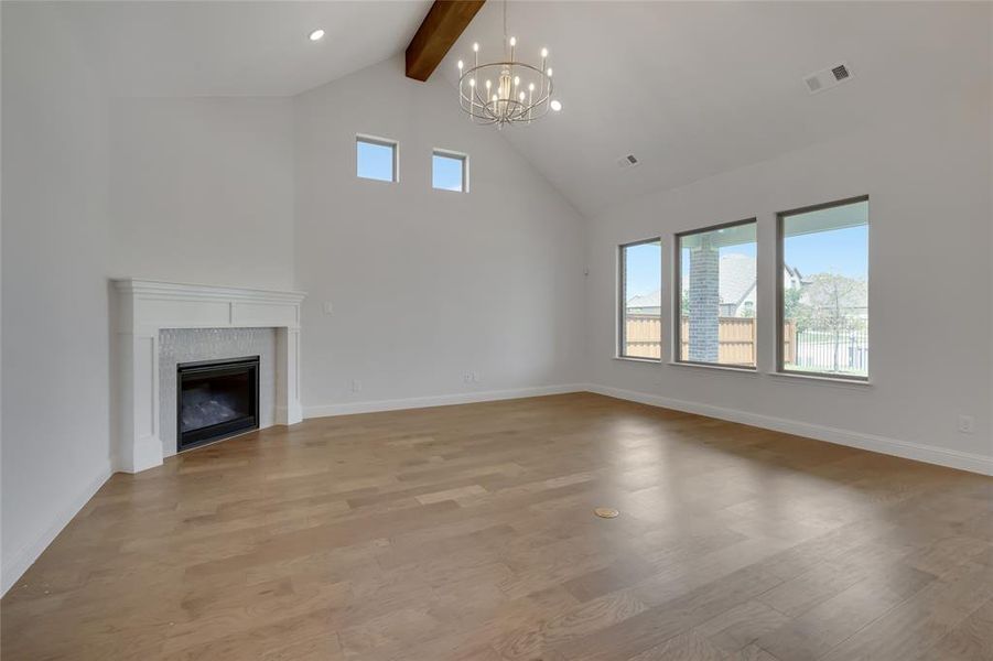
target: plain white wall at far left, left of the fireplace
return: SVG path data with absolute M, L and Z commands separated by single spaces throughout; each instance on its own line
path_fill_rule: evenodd
M 2 13 L 6 590 L 110 463 L 106 100 L 57 11 Z

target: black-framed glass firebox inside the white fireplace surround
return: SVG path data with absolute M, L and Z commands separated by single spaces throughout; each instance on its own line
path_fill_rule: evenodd
M 176 447 L 259 429 L 259 357 L 176 366 Z

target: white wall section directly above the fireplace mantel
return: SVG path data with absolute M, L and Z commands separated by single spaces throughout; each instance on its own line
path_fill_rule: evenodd
M 291 289 L 288 98 L 118 98 L 110 112 L 111 272 Z

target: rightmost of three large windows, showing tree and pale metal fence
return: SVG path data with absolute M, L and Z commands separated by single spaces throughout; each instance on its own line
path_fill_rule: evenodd
M 779 371 L 868 378 L 868 198 L 779 214 Z

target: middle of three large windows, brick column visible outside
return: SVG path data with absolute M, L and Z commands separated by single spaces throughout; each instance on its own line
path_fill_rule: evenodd
M 755 220 L 678 235 L 679 361 L 755 367 Z

